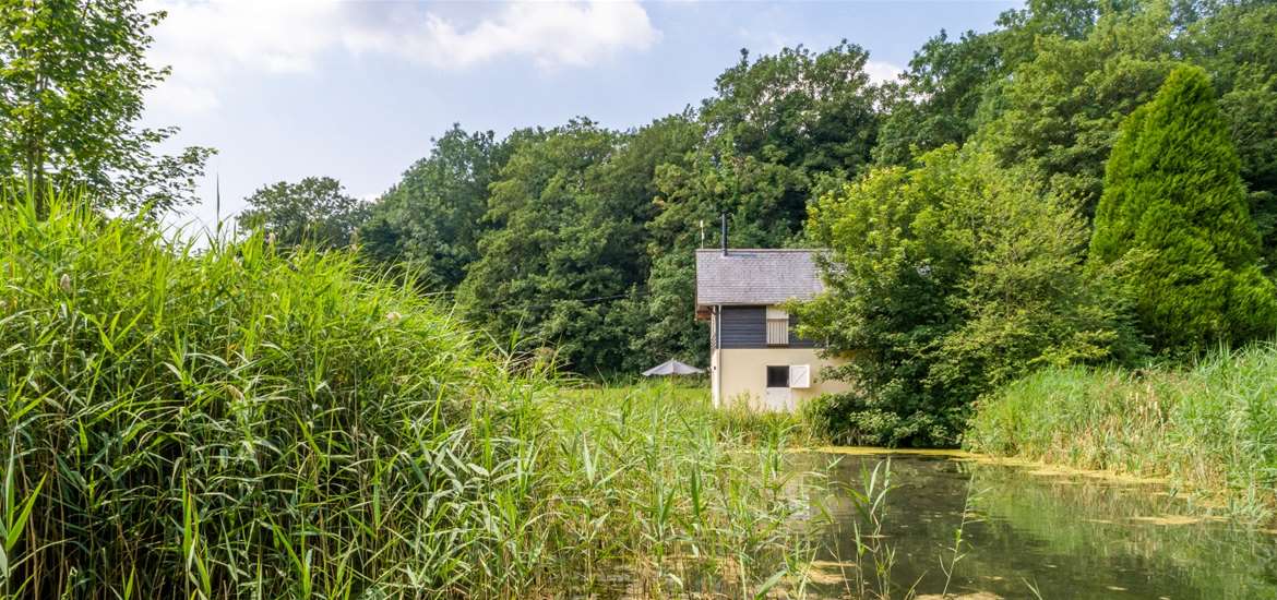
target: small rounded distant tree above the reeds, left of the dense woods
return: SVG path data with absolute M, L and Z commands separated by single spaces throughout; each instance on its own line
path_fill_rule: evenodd
M 250 208 L 240 212 L 240 226 L 262 229 L 281 246 L 347 246 L 368 211 L 332 177 L 278 181 L 258 189 L 246 202 Z

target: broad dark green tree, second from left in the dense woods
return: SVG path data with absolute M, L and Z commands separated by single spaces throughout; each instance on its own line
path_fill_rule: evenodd
M 609 331 L 609 303 L 630 292 L 636 268 L 626 235 L 635 207 L 595 188 L 594 167 L 617 144 L 589 120 L 521 144 L 490 186 L 492 229 L 457 291 L 474 322 L 554 345 L 590 374 L 619 364 L 626 337 Z

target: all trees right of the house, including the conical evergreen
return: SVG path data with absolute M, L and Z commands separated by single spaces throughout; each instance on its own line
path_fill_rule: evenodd
M 875 167 L 807 225 L 839 264 L 799 315 L 857 351 L 829 430 L 951 444 L 1041 365 L 1277 333 L 1274 27 L 1272 3 L 1031 1 L 928 42 Z

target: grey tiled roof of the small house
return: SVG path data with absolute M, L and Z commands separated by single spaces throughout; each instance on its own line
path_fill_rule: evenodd
M 696 305 L 779 304 L 825 290 L 812 257 L 821 250 L 696 250 Z

